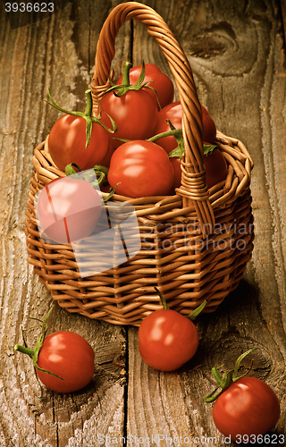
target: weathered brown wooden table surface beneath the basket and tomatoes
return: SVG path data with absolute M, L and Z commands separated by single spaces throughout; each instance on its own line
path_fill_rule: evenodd
M 42 318 L 52 301 L 28 264 L 24 233 L 33 150 L 61 115 L 44 102 L 47 87 L 63 107 L 84 109 L 99 31 L 119 3 L 74 0 L 46 20 L 13 30 L 0 4 L 0 446 L 226 445 L 214 426 L 212 406 L 204 401 L 214 389 L 211 367 L 233 367 L 251 347 L 258 350 L 244 367 L 253 359 L 249 374 L 270 384 L 282 407 L 272 431 L 281 437 L 257 445 L 284 445 L 284 0 L 142 2 L 163 16 L 181 43 L 198 97 L 217 128 L 243 141 L 255 164 L 253 256 L 237 290 L 213 314 L 198 317 L 195 357 L 176 372 L 158 372 L 140 358 L 137 327 L 92 321 L 56 305 L 49 333 L 83 335 L 96 353 L 95 375 L 80 392 L 61 395 L 45 388 L 40 400 L 29 358 L 13 350 L 22 342 L 21 328 L 31 325 L 29 316 Z M 114 70 L 119 74 L 126 60 L 137 65 L 143 58 L 172 77 L 147 30 L 127 22 L 116 40 Z M 37 331 L 27 335 L 30 343 L 37 336 Z

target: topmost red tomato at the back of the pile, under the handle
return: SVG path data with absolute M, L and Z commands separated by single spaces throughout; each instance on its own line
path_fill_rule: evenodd
M 135 84 L 135 82 L 139 79 L 139 75 L 142 71 L 142 65 L 138 65 L 130 69 L 130 84 Z M 122 84 L 123 76 L 120 76 L 116 81 L 116 84 Z M 143 80 L 143 84 L 148 80 L 152 80 L 147 85 L 156 89 L 157 97 L 161 107 L 163 108 L 165 105 L 172 103 L 173 100 L 173 84 L 172 80 L 161 72 L 161 70 L 154 63 L 146 63 L 145 65 L 145 78 Z M 151 97 L 156 101 L 156 94 L 152 89 L 145 89 Z M 158 106 L 158 105 L 157 105 Z

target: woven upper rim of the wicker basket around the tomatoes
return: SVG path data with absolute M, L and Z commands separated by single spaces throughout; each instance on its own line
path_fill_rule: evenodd
M 234 201 L 240 196 L 243 190 L 248 188 L 250 183 L 253 161 L 244 144 L 235 138 L 228 137 L 221 131 L 216 133 L 218 148 L 221 150 L 226 163 L 228 164 L 228 174 L 225 181 L 214 185 L 209 190 L 209 201 L 214 209 L 223 207 L 225 204 Z M 39 184 L 44 187 L 49 181 L 58 177 L 65 177 L 66 174 L 61 171 L 54 163 L 48 152 L 48 136 L 46 140 L 38 144 L 34 149 L 32 158 L 34 174 Z M 148 218 L 149 225 L 151 221 L 156 224 L 162 220 L 184 216 L 185 220 L 198 220 L 196 207 L 191 204 L 189 207 L 182 206 L 181 189 L 176 189 L 173 196 L 153 196 L 145 198 L 129 198 L 114 194 L 111 201 L 129 203 L 135 208 L 138 218 Z M 102 197 L 108 196 L 107 192 L 101 192 Z

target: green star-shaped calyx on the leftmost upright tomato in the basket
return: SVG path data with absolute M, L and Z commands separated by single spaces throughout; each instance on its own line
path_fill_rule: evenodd
M 48 96 L 49 96 L 51 102 L 49 103 L 48 101 L 46 101 L 46 104 L 52 105 L 53 107 L 55 107 L 57 110 L 60 110 L 64 114 L 80 116 L 81 118 L 84 118 L 86 120 L 86 148 L 88 148 L 88 144 L 90 142 L 92 126 L 93 126 L 94 122 L 97 122 L 98 124 L 100 124 L 102 127 L 104 127 L 105 131 L 108 131 L 110 133 L 114 133 L 115 131 L 117 131 L 117 126 L 116 126 L 114 120 L 108 114 L 107 114 L 107 116 L 110 119 L 110 122 L 112 123 L 113 129 L 110 129 L 109 127 L 105 126 L 105 124 L 101 121 L 101 112 L 97 115 L 97 117 L 92 115 L 92 97 L 91 97 L 90 89 L 88 89 L 85 92 L 86 97 L 87 97 L 87 106 L 86 106 L 85 112 L 74 112 L 71 110 L 63 109 L 63 107 L 61 107 L 60 105 L 55 104 L 54 99 L 51 97 L 49 88 L 47 88 L 47 93 L 48 93 Z

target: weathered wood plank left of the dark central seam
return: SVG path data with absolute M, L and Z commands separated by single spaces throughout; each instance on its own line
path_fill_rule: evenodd
M 13 352 L 13 345 L 22 342 L 21 326 L 31 325 L 28 317 L 43 317 L 51 304 L 28 265 L 24 236 L 33 149 L 60 115 L 44 102 L 47 86 L 63 107 L 85 107 L 97 37 L 115 4 L 68 4 L 49 20 L 17 30 L 11 30 L 4 4 L 0 5 L 1 445 L 97 445 L 97 434 L 123 433 L 124 329 L 67 314 L 56 306 L 49 331 L 80 333 L 96 352 L 92 383 L 72 395 L 45 389 L 39 400 L 29 358 Z M 118 38 L 122 48 L 129 29 L 127 25 Z M 29 343 L 37 336 L 29 333 Z

